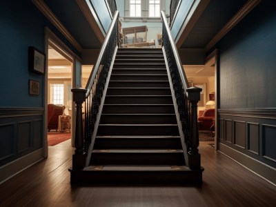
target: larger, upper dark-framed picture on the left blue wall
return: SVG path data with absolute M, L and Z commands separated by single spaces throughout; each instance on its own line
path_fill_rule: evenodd
M 45 73 L 46 56 L 37 48 L 29 47 L 29 69 L 41 75 Z

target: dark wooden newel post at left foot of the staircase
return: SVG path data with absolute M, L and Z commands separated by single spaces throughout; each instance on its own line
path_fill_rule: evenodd
M 72 157 L 72 168 L 83 169 L 86 163 L 86 155 L 83 150 L 83 126 L 82 126 L 82 103 L 86 100 L 86 89 L 72 88 L 73 101 L 76 103 L 76 130 L 75 130 L 75 154 Z

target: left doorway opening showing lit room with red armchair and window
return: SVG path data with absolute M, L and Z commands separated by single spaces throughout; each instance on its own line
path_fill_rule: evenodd
M 48 146 L 72 137 L 72 60 L 54 43 L 48 44 Z

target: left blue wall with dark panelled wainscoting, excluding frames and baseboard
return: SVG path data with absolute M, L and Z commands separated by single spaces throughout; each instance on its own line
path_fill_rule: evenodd
M 43 147 L 44 76 L 28 69 L 28 48 L 45 51 L 45 27 L 79 55 L 32 1 L 1 1 L 0 166 Z M 39 81 L 39 96 L 28 94 L 29 79 Z

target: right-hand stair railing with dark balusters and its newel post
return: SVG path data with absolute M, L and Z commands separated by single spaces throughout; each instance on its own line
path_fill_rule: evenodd
M 179 119 L 188 151 L 188 167 L 191 169 L 200 169 L 197 102 L 200 100 L 200 92 L 202 89 L 197 87 L 189 88 L 184 68 L 182 67 L 177 47 L 175 46 L 175 41 L 172 39 L 172 34 L 166 21 L 166 14 L 163 11 L 161 11 L 161 19 L 163 21 L 162 46 L 168 62 L 173 89 L 175 90 Z

